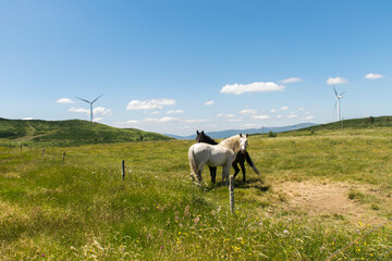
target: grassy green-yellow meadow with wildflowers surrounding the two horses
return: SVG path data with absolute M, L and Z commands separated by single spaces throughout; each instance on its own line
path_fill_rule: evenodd
M 0 259 L 310 261 L 358 239 L 330 260 L 391 260 L 391 135 L 250 136 L 262 175 L 238 174 L 234 214 L 220 170 L 217 185 L 207 167 L 192 183 L 193 140 L 0 147 Z M 341 202 L 323 209 L 320 194 Z

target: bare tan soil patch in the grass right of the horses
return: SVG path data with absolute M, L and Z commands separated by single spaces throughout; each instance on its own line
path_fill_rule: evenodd
M 377 210 L 367 203 L 350 199 L 350 191 L 370 194 L 376 190 L 368 185 L 348 183 L 284 182 L 275 190 L 286 196 L 286 208 L 307 212 L 310 216 L 334 215 L 352 222 L 375 224 L 383 221 Z

